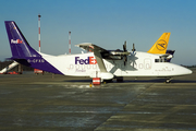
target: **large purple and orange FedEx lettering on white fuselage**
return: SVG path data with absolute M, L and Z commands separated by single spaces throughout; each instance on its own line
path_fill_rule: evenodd
M 79 59 L 79 57 L 75 57 L 75 64 L 96 64 L 97 60 L 94 57 L 88 57 L 87 59 Z

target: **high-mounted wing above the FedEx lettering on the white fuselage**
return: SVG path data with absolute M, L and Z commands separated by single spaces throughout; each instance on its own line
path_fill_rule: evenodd
M 78 45 L 75 45 L 76 47 L 79 47 L 84 50 L 87 50 L 87 51 L 99 51 L 99 52 L 108 52 L 108 50 L 97 46 L 97 45 L 94 45 L 94 44 L 90 44 L 90 43 L 83 43 L 83 44 L 78 44 Z

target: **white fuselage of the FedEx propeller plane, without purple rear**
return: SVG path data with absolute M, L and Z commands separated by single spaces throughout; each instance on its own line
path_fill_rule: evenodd
M 42 57 L 64 75 L 99 78 L 100 70 L 93 52 L 78 55 Z M 157 59 L 157 60 L 156 60 Z M 191 74 L 192 71 L 170 62 L 159 61 L 159 55 L 135 51 L 127 56 L 127 62 L 122 60 L 106 60 L 103 63 L 108 72 L 114 76 L 175 76 Z

